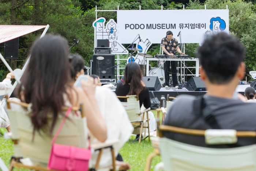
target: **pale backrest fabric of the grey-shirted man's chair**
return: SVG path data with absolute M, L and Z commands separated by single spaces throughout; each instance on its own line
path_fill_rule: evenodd
M 165 171 L 255 171 L 256 145 L 238 148 L 205 148 L 160 138 Z

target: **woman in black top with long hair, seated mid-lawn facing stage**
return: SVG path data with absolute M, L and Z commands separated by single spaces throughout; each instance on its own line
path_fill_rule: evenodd
M 142 104 L 144 106 L 143 109 L 147 109 L 150 107 L 150 95 L 148 88 L 142 81 L 142 73 L 140 71 L 140 67 L 135 62 L 129 62 L 124 70 L 124 82 L 121 81 L 117 84 L 116 87 L 116 95 L 117 96 L 127 96 L 127 95 L 138 95 L 140 107 Z M 119 99 L 121 102 L 125 102 L 126 99 Z M 150 118 L 150 132 L 156 129 L 156 121 L 154 114 L 150 111 L 148 113 L 148 117 Z M 136 131 L 138 133 L 138 130 Z M 135 133 L 135 132 L 134 132 Z M 137 134 L 136 133 L 136 134 Z M 139 135 L 137 134 L 137 137 Z

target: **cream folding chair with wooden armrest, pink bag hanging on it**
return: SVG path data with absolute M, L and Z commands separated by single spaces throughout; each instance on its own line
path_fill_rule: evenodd
M 10 103 L 19 104 L 27 110 L 11 109 Z M 9 171 L 12 171 L 13 167 L 48 171 L 46 166 L 49 160 L 50 150 L 52 147 L 50 143 L 52 141 L 52 137 L 50 137 L 49 134 L 46 134 L 44 132 L 36 132 L 34 134 L 34 139 L 32 141 L 33 125 L 31 124 L 31 120 L 29 117 L 30 107 L 31 104 L 7 99 L 7 112 L 11 122 L 12 141 L 14 142 L 14 156 L 12 156 L 11 158 Z M 68 107 L 63 107 L 63 111 L 67 110 Z M 87 128 L 86 117 L 83 116 L 82 105 L 80 106 L 80 108 L 72 108 L 72 112 L 77 112 L 78 110 L 81 111 L 82 118 L 67 119 L 63 128 L 61 129 L 61 132 L 56 140 L 56 143 L 72 145 L 80 148 L 88 148 L 87 141 L 89 130 Z M 49 121 L 51 121 L 52 118 L 49 116 L 48 119 Z M 57 119 L 57 122 L 54 126 L 53 134 L 56 133 L 62 121 L 63 117 L 59 117 Z M 93 149 L 94 151 L 99 151 L 99 155 L 95 166 L 91 166 L 92 164 L 90 164 L 90 170 L 99 170 L 99 161 L 104 148 L 110 148 L 112 153 L 111 157 L 113 166 L 108 170 L 116 170 L 116 158 L 114 156 L 113 148 L 113 145 L 116 142 L 117 141 L 108 141 L 104 143 L 91 144 L 91 149 Z M 29 157 L 29 159 L 32 161 L 32 164 L 22 164 L 20 160 L 22 160 L 23 156 Z

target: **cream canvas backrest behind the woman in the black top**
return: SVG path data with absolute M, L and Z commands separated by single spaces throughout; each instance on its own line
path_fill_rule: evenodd
M 118 98 L 127 99 L 127 102 L 121 102 L 126 110 L 131 122 L 141 121 L 140 102 L 136 95 L 117 96 Z

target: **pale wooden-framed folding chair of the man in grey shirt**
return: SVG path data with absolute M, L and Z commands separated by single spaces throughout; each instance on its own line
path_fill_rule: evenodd
M 204 136 L 206 143 L 211 145 L 234 144 L 237 137 L 256 137 L 256 132 L 223 129 L 196 130 L 160 125 L 159 151 L 165 171 L 256 170 L 256 144 L 237 148 L 198 147 L 164 138 L 163 132 Z M 151 159 L 148 157 L 147 169 L 150 167 Z

